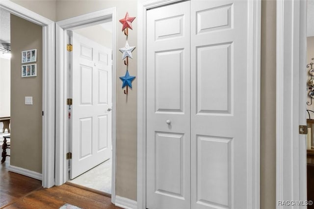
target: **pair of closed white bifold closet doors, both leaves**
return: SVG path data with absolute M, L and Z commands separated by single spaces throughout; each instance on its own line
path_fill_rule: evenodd
M 147 11 L 148 209 L 247 207 L 247 17 L 245 0 Z

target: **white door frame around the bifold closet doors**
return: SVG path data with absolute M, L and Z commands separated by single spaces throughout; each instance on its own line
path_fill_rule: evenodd
M 182 0 L 138 0 L 137 3 L 137 208 L 146 208 L 146 13 Z M 248 0 L 247 208 L 260 208 L 261 0 Z M 249 140 L 250 139 L 250 140 Z

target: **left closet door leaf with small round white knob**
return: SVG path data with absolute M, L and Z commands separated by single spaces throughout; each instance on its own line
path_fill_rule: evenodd
M 189 11 L 147 11 L 148 209 L 190 209 Z

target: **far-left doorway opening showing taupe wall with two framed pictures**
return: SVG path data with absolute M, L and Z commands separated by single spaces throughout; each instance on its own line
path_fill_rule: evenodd
M 30 177 L 42 180 L 43 29 L 1 10 L 1 163 L 9 164 L 9 171 L 26 176 L 29 171 Z

